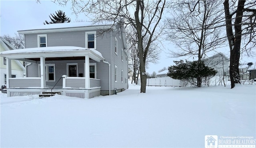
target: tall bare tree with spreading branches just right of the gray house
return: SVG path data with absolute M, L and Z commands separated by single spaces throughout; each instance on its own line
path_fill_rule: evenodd
M 40 2 L 40 0 L 37 0 Z M 166 5 L 166 0 L 54 0 L 55 3 L 66 5 L 71 2 L 75 14 L 85 14 L 94 22 L 124 19 L 126 25 L 132 25 L 138 37 L 138 55 L 140 60 L 140 92 L 146 92 L 146 60 L 150 45 L 159 39 L 162 32 L 158 25 Z M 146 41 L 146 48 L 143 42 Z

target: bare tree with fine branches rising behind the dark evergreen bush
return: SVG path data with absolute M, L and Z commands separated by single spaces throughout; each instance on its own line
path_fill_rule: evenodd
M 171 51 L 171 57 L 197 56 L 199 63 L 206 53 L 223 45 L 222 29 L 216 29 L 224 23 L 221 4 L 219 0 L 177 0 L 173 3 L 171 17 L 166 19 L 165 26 L 168 39 L 180 50 Z M 202 79 L 197 78 L 198 87 L 201 83 Z

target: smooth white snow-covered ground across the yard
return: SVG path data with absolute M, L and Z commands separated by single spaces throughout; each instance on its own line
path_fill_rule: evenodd
M 140 86 L 80 99 L 1 93 L 1 147 L 204 148 L 205 135 L 256 139 L 256 85 Z

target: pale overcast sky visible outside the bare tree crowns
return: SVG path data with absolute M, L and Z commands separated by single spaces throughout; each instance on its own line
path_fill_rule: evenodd
M 71 19 L 71 22 L 81 20 L 90 21 L 84 14 L 80 14 L 79 16 L 72 14 L 71 5 L 69 3 L 63 7 L 50 0 L 41 0 L 40 3 L 36 3 L 36 0 L 0 0 L 0 35 L 14 36 L 15 33 L 18 33 L 18 30 L 43 25 L 45 20 L 50 21 L 49 15 L 54 14 L 57 10 L 64 11 L 66 16 Z M 149 64 L 146 70 L 149 74 L 152 74 L 154 71 L 158 73 L 158 70 L 164 67 L 168 68 L 168 66 L 174 64 L 173 60 L 186 59 L 186 57 L 168 57 L 170 55 L 168 54 L 168 49 L 175 49 L 169 41 L 164 41 L 163 46 L 164 47 L 161 48 L 162 53 L 160 54 L 158 64 Z M 223 48 L 219 52 L 229 57 L 228 51 L 228 48 Z M 251 61 L 252 60 L 249 59 L 245 62 Z

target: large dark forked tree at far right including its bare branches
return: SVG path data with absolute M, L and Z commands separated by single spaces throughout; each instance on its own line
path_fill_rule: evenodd
M 231 88 L 234 88 L 235 84 L 241 84 L 238 68 L 240 53 L 245 51 L 249 55 L 256 46 L 255 7 L 256 0 L 224 1 L 226 33 L 230 47 Z

